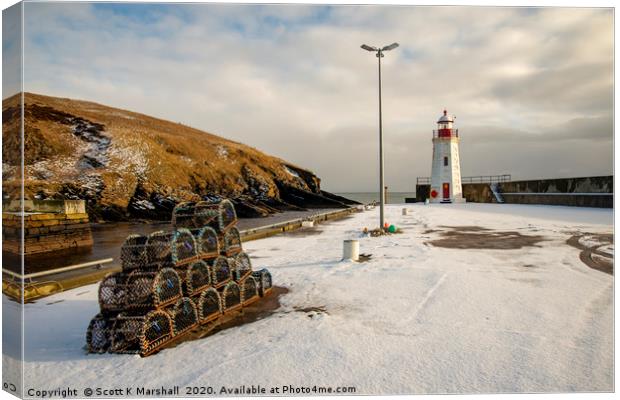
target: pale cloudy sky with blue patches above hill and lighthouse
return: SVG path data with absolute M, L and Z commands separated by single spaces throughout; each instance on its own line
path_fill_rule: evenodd
M 377 59 L 363 43 L 400 44 L 382 59 L 391 191 L 430 175 L 444 108 L 462 176 L 613 173 L 610 8 L 25 3 L 24 26 L 26 91 L 215 133 L 328 191 L 378 187 Z M 3 34 L 7 57 L 19 46 Z

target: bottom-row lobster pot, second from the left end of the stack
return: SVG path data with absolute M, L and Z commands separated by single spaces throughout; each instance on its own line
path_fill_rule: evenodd
M 110 351 L 146 355 L 173 336 L 172 320 L 162 310 L 138 316 L 120 314 L 112 329 Z

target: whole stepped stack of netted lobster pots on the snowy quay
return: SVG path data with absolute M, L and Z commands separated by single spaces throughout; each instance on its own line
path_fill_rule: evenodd
M 99 285 L 88 351 L 149 355 L 265 296 L 271 274 L 252 270 L 236 224 L 228 200 L 181 203 L 171 231 L 128 236 L 122 270 Z

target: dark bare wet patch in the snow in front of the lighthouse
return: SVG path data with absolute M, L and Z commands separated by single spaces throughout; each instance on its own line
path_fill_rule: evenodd
M 441 238 L 425 242 L 435 247 L 449 249 L 516 250 L 537 247 L 546 240 L 540 235 L 524 235 L 516 231 L 491 231 L 478 226 L 446 226 L 440 231 Z

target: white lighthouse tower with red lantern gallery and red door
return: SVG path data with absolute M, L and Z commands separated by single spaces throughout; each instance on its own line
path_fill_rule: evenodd
M 433 131 L 433 167 L 431 203 L 464 203 L 459 160 L 459 130 L 454 129 L 454 116 L 443 110 Z

